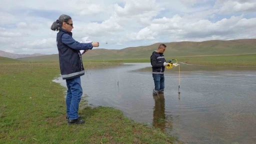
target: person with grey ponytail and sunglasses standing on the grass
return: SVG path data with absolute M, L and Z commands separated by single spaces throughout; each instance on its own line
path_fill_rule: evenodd
M 78 106 L 82 96 L 80 76 L 84 75 L 80 50 L 87 51 L 98 47 L 98 42 L 79 43 L 72 38 L 73 21 L 70 16 L 62 14 L 54 21 L 51 30 L 59 31 L 56 36 L 59 66 L 62 79 L 66 80 L 66 119 L 67 123 L 84 123 L 78 116 Z

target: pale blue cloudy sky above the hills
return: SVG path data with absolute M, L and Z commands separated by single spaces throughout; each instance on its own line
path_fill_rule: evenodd
M 0 50 L 57 53 L 50 26 L 61 14 L 72 17 L 74 39 L 98 48 L 256 38 L 256 0 L 1 0 Z

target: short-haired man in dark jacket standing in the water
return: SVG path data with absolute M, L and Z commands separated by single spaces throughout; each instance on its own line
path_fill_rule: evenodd
M 165 61 L 163 52 L 165 51 L 166 45 L 160 44 L 158 49 L 153 51 L 150 56 L 150 62 L 152 65 L 152 76 L 154 80 L 153 94 L 163 93 L 164 91 L 164 66 L 168 65 L 171 60 Z

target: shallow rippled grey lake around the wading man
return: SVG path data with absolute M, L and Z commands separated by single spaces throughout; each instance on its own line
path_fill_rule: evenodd
M 165 68 L 164 94 L 152 95 L 150 63 L 87 70 L 90 104 L 111 106 L 184 143 L 256 143 L 256 67 L 180 64 Z M 142 69 L 141 69 L 142 68 Z M 65 81 L 58 80 L 61 85 Z

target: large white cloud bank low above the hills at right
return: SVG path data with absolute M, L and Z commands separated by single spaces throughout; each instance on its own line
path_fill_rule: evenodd
M 177 40 L 206 40 L 209 37 L 212 37 L 212 39 L 229 39 L 241 38 L 241 35 L 247 35 L 246 38 L 252 38 L 254 34 L 249 31 L 256 32 L 255 23 L 256 18 L 246 19 L 240 16 L 231 16 L 216 22 L 211 22 L 207 19 L 189 22 L 183 17 L 174 15 L 172 18 L 163 17 L 152 20 L 150 26 L 134 34 L 137 38 L 131 40 L 153 39 L 155 35 L 166 35 Z

